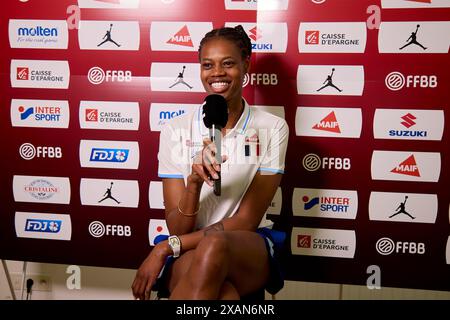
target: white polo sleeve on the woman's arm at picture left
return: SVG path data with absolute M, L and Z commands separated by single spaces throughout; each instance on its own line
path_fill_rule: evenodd
M 180 130 L 166 124 L 159 135 L 158 177 L 183 178 L 183 144 Z

